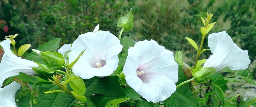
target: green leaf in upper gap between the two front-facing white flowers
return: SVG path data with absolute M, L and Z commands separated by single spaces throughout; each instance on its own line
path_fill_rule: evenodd
M 120 44 L 123 45 L 123 51 L 125 55 L 128 55 L 129 47 L 133 47 L 135 43 L 129 37 L 124 36 L 122 37 Z

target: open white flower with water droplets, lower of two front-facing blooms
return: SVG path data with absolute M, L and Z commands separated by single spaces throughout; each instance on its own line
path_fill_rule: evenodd
M 154 40 L 144 40 L 128 49 L 123 73 L 130 87 L 155 103 L 167 99 L 176 90 L 178 64 L 173 52 Z

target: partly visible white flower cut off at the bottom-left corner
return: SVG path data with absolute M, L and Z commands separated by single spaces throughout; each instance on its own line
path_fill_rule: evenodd
M 15 93 L 20 89 L 20 84 L 13 82 L 10 85 L 0 88 L 0 107 L 17 107 L 15 103 Z

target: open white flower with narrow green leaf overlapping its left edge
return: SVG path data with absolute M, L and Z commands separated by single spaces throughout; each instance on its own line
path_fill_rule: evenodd
M 68 54 L 69 62 L 72 63 L 82 51 L 86 50 L 75 63 L 72 71 L 83 79 L 111 75 L 118 66 L 117 54 L 122 48 L 120 40 L 109 31 L 100 30 L 79 35 Z

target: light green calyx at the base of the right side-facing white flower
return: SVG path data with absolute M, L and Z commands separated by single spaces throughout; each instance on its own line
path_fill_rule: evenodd
M 213 67 L 201 67 L 198 66 L 195 70 L 193 70 L 192 75 L 196 81 L 202 82 L 205 81 L 208 77 L 216 72 L 216 68 Z

